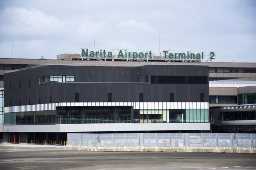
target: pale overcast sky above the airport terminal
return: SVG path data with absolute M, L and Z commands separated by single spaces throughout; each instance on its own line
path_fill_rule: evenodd
M 159 36 L 160 35 L 160 36 Z M 0 0 L 0 58 L 81 48 L 215 51 L 256 62 L 256 0 Z

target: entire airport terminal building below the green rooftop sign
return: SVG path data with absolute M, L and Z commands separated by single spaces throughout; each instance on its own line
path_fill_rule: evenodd
M 80 56 L 1 59 L 3 141 L 59 141 L 76 132 L 256 132 L 256 63 Z

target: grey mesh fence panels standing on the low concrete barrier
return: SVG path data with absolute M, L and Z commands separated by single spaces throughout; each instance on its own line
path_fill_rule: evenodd
M 68 145 L 117 147 L 256 147 L 248 133 L 68 133 Z

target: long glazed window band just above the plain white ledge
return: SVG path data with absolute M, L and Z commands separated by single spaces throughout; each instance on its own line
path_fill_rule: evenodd
M 132 114 L 55 115 L 50 111 L 4 113 L 4 125 L 81 123 L 204 123 L 208 109 L 134 109 Z

